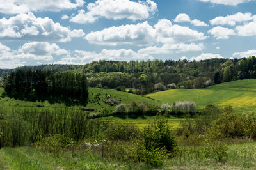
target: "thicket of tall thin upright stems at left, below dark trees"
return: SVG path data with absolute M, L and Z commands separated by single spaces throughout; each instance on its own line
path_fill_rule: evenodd
M 88 113 L 74 109 L 12 109 L 0 111 L 0 148 L 26 146 L 44 137 L 63 134 L 74 141 L 99 133 L 99 126 Z

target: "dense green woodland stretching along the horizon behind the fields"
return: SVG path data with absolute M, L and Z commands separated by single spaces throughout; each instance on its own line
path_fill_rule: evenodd
M 170 88 L 205 88 L 212 84 L 256 78 L 256 58 L 209 59 L 205 61 L 93 61 L 86 65 L 22 66 L 17 70 L 82 73 L 88 85 L 98 88 L 138 89 L 150 93 Z M 7 72 L 8 73 L 8 72 Z M 3 76 L 3 73 L 2 73 Z M 157 86 L 160 85 L 160 86 Z M 163 86 L 161 86 L 163 85 Z

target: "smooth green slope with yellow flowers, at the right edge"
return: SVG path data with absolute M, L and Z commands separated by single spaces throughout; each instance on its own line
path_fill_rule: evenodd
M 225 82 L 204 89 L 170 89 L 147 95 L 162 103 L 194 101 L 200 108 L 209 104 L 232 105 L 236 111 L 256 111 L 256 79 Z

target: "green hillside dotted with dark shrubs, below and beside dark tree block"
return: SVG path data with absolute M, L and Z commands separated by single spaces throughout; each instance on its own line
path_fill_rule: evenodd
M 116 99 L 120 103 L 129 104 L 132 101 L 136 101 L 138 104 L 141 102 L 147 105 L 160 104 L 156 100 L 142 97 L 140 95 L 134 95 L 132 93 L 116 91 L 114 89 L 99 89 L 99 88 L 88 88 L 89 91 L 89 102 L 86 107 L 93 107 L 95 113 L 108 113 L 115 109 L 115 106 L 106 104 L 104 101 L 107 99 L 106 96 L 110 95 L 110 99 Z M 23 100 L 15 100 L 14 98 L 2 97 L 4 92 L 3 88 L 0 88 L 0 107 L 36 107 L 36 105 L 44 105 L 44 108 L 54 109 L 65 107 L 64 104 L 49 104 L 49 102 L 29 102 Z M 69 108 L 80 109 L 80 106 L 72 106 Z

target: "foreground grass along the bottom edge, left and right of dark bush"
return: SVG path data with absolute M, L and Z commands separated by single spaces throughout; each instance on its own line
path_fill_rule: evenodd
M 255 169 L 256 143 L 229 144 L 224 162 L 214 158 L 205 158 L 202 147 L 182 148 L 180 157 L 172 158 L 164 163 L 163 169 Z M 200 155 L 198 155 L 200 153 Z M 2 163 L 2 164 L 1 164 Z M 0 150 L 0 169 L 141 169 L 136 163 L 118 162 L 102 159 L 100 155 L 88 153 L 65 153 L 54 157 L 36 148 L 2 148 Z M 146 167 L 142 167 L 146 169 Z

